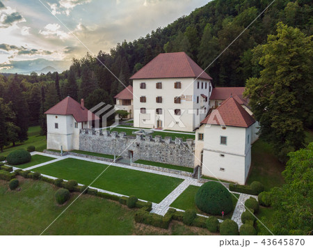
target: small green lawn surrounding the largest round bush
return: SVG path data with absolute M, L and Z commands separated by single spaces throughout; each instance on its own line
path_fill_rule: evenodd
M 179 208 L 182 210 L 194 209 L 201 215 L 207 215 L 206 213 L 200 211 L 197 206 L 195 206 L 195 193 L 198 191 L 198 186 L 189 185 L 184 192 L 170 205 L 172 208 Z M 232 195 L 233 207 L 236 207 L 237 199 L 239 198 L 239 194 L 234 194 L 236 197 Z M 227 215 L 224 215 L 224 219 L 232 218 L 232 213 L 230 212 Z M 214 216 L 214 215 L 209 215 Z M 222 219 L 221 216 L 216 216 L 218 219 Z

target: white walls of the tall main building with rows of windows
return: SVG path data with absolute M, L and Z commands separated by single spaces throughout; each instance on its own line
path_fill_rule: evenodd
M 209 110 L 209 88 L 212 89 L 212 86 L 209 80 L 194 80 L 195 78 L 134 79 L 134 127 L 186 132 L 199 127 Z M 157 88 L 159 82 L 161 88 Z M 180 82 L 181 88 L 175 88 L 175 82 Z M 145 83 L 145 88 L 141 88 L 141 83 Z M 206 95 L 207 101 L 201 95 Z M 175 103 L 175 98 L 179 96 L 182 97 L 181 103 Z M 141 102 L 141 97 L 145 97 L 146 102 Z M 157 97 L 161 97 L 161 102 L 157 102 Z M 161 114 L 157 114 L 157 109 L 161 109 Z M 180 109 L 180 115 L 175 114 L 175 109 Z

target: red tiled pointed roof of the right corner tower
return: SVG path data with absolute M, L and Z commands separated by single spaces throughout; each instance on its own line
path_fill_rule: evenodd
M 233 127 L 250 127 L 255 119 L 243 109 L 241 104 L 233 97 L 225 100 L 220 106 L 213 110 L 209 116 L 204 118 L 202 124 L 228 125 Z

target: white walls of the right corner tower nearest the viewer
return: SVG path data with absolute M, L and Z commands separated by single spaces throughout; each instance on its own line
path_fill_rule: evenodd
M 251 165 L 251 142 L 257 137 L 254 126 L 202 125 L 196 131 L 195 166 L 202 162 L 204 176 L 245 184 Z M 203 134 L 203 140 L 199 140 L 199 134 Z M 221 144 L 221 137 L 226 137 L 226 144 Z

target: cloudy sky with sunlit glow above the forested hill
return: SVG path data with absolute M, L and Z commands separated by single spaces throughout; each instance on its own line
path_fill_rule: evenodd
M 0 72 L 27 73 L 47 66 L 61 72 L 88 49 L 91 54 L 110 52 L 118 42 L 145 37 L 207 2 L 0 0 Z

